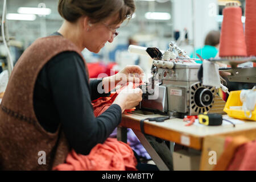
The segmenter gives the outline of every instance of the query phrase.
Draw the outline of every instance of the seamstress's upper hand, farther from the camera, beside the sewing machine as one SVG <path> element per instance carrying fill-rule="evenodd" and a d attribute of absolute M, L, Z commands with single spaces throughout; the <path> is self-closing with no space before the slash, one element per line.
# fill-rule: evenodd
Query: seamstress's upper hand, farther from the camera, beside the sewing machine
<path fill-rule="evenodd" d="M 144 72 L 138 65 L 126 65 L 117 74 L 102 79 L 105 93 L 114 89 L 115 86 L 125 85 L 127 82 L 141 83 Z"/>

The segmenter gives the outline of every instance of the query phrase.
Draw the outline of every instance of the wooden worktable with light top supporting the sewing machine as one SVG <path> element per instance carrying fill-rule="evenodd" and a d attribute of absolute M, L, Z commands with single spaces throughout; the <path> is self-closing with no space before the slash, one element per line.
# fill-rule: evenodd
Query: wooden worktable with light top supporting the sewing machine
<path fill-rule="evenodd" d="M 245 123 L 221 126 L 185 126 L 186 122 L 183 119 L 172 118 L 164 122 L 149 122 L 144 121 L 144 133 L 141 133 L 141 119 L 148 117 L 159 117 L 159 114 L 142 113 L 127 113 L 122 115 L 122 122 L 118 127 L 118 139 L 126 141 L 126 128 L 133 129 L 141 143 L 146 148 L 151 158 L 161 170 L 173 169 L 172 155 L 170 148 L 166 148 L 165 144 L 159 141 L 155 142 L 155 137 L 163 140 L 168 140 L 187 146 L 201 152 L 200 169 L 209 170 L 213 166 L 208 165 L 208 151 L 217 150 L 217 158 L 223 151 L 223 144 L 226 136 L 245 135 L 247 138 L 256 139 L 256 122 L 245 121 Z M 145 137 L 146 136 L 146 137 Z"/>

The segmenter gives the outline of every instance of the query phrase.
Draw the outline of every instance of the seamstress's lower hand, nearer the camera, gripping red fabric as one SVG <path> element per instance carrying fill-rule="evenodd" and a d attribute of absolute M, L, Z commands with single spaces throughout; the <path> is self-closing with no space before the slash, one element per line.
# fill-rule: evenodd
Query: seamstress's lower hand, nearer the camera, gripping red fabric
<path fill-rule="evenodd" d="M 142 90 L 140 88 L 133 89 L 133 83 L 129 82 L 129 85 L 115 98 L 113 104 L 119 105 L 123 113 L 126 109 L 132 109 L 137 106 L 141 101 Z"/>

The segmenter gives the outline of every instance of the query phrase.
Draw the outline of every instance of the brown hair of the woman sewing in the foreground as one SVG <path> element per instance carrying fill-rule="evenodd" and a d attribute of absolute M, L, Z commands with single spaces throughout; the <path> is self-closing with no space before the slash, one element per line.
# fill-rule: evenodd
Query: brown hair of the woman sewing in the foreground
<path fill-rule="evenodd" d="M 113 24 L 131 18 L 135 11 L 134 0 L 59 0 L 59 14 L 69 22 L 88 16 L 90 22 L 98 23 L 118 14 Z"/>

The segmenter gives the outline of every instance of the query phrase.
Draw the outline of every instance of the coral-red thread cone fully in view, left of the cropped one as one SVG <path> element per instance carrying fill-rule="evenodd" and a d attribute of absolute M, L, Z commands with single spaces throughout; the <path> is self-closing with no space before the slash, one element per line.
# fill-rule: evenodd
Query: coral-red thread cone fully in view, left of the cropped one
<path fill-rule="evenodd" d="M 242 9 L 238 3 L 227 3 L 223 10 L 220 38 L 220 57 L 245 57 L 246 44 L 241 21 Z"/>

